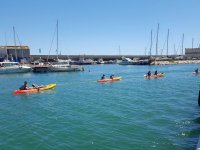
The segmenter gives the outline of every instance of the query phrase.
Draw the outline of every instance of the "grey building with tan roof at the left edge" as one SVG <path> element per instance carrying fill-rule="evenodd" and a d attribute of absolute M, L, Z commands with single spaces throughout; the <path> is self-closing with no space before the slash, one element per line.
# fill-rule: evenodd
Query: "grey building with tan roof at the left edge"
<path fill-rule="evenodd" d="M 0 46 L 0 60 L 29 62 L 30 49 L 28 46 Z"/>

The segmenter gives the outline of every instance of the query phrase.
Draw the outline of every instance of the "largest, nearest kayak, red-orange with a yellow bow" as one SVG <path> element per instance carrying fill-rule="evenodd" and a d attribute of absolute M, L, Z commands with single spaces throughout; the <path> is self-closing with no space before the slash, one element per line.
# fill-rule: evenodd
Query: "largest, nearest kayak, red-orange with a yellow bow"
<path fill-rule="evenodd" d="M 48 84 L 39 88 L 31 88 L 28 90 L 15 90 L 13 91 L 13 94 L 26 94 L 26 93 L 35 93 L 39 91 L 49 90 L 56 86 L 56 84 Z"/>

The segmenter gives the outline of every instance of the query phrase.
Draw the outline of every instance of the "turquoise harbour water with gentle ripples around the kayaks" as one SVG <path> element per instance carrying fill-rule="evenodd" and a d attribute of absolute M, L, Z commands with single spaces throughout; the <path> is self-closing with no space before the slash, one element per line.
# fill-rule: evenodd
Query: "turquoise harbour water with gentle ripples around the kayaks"
<path fill-rule="evenodd" d="M 0 149 L 189 150 L 200 134 L 199 65 L 86 66 L 84 72 L 1 75 Z M 166 77 L 144 79 L 148 70 Z M 102 73 L 122 76 L 97 83 Z M 13 95 L 24 81 L 53 90 Z"/>

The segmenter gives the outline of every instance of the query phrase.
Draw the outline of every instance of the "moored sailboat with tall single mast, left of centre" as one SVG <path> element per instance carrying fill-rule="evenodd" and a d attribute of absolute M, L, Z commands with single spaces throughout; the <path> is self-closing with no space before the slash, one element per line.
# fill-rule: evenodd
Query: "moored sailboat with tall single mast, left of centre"
<path fill-rule="evenodd" d="M 70 72 L 70 71 L 83 71 L 84 68 L 79 65 L 70 65 L 69 60 L 62 60 L 58 58 L 58 20 L 56 24 L 56 29 L 57 29 L 57 61 L 50 64 L 49 71 L 50 72 Z"/>

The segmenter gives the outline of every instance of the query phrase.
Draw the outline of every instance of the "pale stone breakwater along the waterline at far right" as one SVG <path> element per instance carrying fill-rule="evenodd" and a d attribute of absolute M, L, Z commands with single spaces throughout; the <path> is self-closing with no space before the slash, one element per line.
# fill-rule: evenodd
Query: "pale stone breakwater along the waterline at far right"
<path fill-rule="evenodd" d="M 156 60 L 151 65 L 198 64 L 200 60 Z"/>

